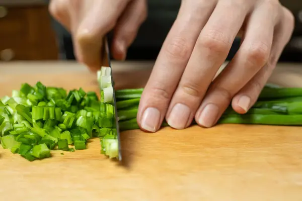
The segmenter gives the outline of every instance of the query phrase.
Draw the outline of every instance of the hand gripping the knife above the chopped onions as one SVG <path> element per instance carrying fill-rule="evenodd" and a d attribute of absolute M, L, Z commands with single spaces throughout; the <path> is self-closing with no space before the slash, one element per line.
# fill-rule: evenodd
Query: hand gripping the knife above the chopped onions
<path fill-rule="evenodd" d="M 94 71 L 101 66 L 103 37 L 114 29 L 112 55 L 124 60 L 147 16 L 146 0 L 51 0 L 49 11 L 71 33 L 78 61 Z"/>

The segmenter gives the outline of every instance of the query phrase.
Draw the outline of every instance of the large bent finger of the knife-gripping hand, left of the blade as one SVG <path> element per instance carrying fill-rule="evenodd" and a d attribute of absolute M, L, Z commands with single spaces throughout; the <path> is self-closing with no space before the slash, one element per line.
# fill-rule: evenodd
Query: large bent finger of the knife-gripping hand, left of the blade
<path fill-rule="evenodd" d="M 95 1 L 73 34 L 75 55 L 91 70 L 100 69 L 102 40 L 113 29 L 126 5 L 124 0 Z"/>

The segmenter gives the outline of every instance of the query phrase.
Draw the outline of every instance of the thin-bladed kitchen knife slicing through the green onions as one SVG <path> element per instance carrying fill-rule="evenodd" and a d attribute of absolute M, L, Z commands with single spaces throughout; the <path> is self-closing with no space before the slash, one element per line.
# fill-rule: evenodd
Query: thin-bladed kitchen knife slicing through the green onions
<path fill-rule="evenodd" d="M 112 68 L 111 68 L 111 60 L 110 60 L 110 51 L 109 51 L 109 45 L 108 45 L 108 39 L 107 37 L 104 37 L 103 42 L 103 50 L 102 50 L 102 64 L 103 66 L 110 67 L 110 74 L 111 74 L 111 85 L 113 88 L 113 106 L 114 106 L 114 116 L 115 116 L 115 129 L 116 129 L 116 135 L 118 140 L 118 160 L 122 160 L 122 154 L 121 154 L 121 142 L 120 142 L 120 131 L 119 131 L 119 125 L 118 125 L 118 115 L 117 115 L 117 107 L 116 107 L 116 98 L 115 98 L 115 90 L 114 90 L 114 80 L 112 76 Z"/>

